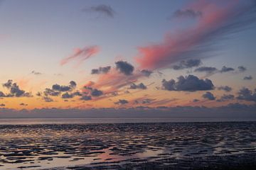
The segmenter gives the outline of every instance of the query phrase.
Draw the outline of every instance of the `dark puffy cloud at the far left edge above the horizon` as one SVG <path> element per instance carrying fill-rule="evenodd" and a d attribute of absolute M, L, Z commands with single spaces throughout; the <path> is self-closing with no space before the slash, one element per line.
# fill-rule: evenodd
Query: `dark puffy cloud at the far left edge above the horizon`
<path fill-rule="evenodd" d="M 16 83 L 13 83 L 11 79 L 9 79 L 5 84 L 3 84 L 4 87 L 9 89 L 9 94 L 6 94 L 3 96 L 4 93 L 1 93 L 2 97 L 31 97 L 31 93 L 28 93 L 26 91 L 23 91 L 19 88 L 19 86 Z"/>

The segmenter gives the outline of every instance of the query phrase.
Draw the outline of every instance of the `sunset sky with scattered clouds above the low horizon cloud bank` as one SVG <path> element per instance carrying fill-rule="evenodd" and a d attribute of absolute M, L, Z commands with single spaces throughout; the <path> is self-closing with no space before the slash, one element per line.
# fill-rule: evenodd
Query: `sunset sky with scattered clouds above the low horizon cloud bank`
<path fill-rule="evenodd" d="M 255 21 L 252 0 L 2 0 L 0 115 L 254 112 Z"/>

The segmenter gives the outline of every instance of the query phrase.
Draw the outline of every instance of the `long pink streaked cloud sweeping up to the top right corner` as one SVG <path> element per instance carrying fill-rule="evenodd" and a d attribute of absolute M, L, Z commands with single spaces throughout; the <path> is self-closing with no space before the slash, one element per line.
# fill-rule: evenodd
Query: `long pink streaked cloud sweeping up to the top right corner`
<path fill-rule="evenodd" d="M 218 40 L 230 38 L 256 20 L 254 1 L 196 1 L 189 6 L 203 15 L 193 26 L 167 34 L 162 42 L 138 47 L 139 69 L 164 69 L 180 60 L 215 56 L 211 52 L 216 51 Z"/>

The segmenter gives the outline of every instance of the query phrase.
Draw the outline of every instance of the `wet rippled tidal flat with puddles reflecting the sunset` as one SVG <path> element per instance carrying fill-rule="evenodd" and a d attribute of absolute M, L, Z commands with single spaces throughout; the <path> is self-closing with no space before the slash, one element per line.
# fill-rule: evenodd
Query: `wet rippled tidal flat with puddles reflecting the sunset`
<path fill-rule="evenodd" d="M 0 169 L 255 169 L 256 122 L 0 125 Z"/>

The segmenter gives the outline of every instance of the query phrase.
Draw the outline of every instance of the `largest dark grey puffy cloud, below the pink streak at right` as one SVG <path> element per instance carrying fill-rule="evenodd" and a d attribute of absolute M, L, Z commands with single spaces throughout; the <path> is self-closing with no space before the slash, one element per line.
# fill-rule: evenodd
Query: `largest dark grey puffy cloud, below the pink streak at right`
<path fill-rule="evenodd" d="M 171 79 L 166 81 L 162 80 L 162 86 L 164 90 L 168 91 L 207 91 L 213 90 L 214 85 L 210 79 L 198 79 L 193 75 L 187 77 L 178 77 L 178 81 Z"/>

